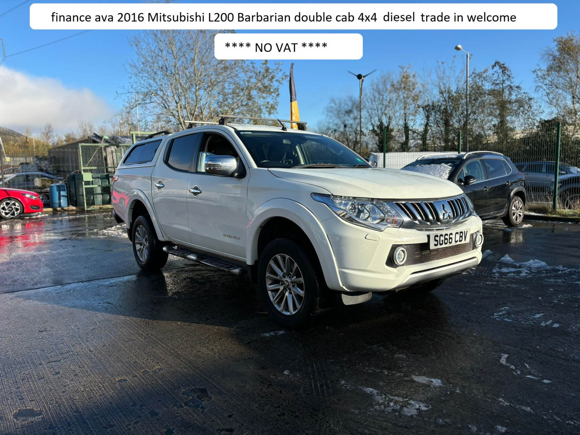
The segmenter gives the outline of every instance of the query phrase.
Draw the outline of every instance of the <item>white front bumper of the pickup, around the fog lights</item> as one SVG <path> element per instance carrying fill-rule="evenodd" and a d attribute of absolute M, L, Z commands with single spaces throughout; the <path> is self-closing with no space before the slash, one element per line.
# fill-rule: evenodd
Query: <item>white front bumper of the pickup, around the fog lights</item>
<path fill-rule="evenodd" d="M 425 253 L 426 262 L 394 266 L 389 253 L 396 245 L 425 244 L 436 231 L 387 228 L 374 231 L 345 222 L 336 217 L 321 222 L 336 258 L 342 288 L 338 291 L 386 292 L 438 278 L 445 278 L 477 266 L 481 247 L 459 249 L 439 258 Z M 472 216 L 456 224 L 452 230 L 481 231 L 481 219 Z M 473 245 L 471 245 L 473 248 Z M 446 249 L 446 248 L 440 248 Z M 436 250 L 433 250 L 436 251 Z M 442 252 L 442 251 L 439 251 Z"/>

